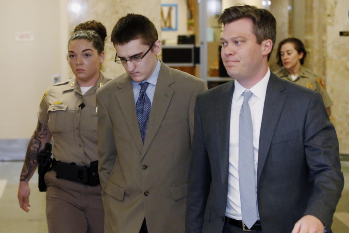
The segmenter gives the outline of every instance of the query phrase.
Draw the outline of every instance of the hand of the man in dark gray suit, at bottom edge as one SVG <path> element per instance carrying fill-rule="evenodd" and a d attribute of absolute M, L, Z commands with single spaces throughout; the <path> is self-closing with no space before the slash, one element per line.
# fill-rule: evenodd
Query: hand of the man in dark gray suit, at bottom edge
<path fill-rule="evenodd" d="M 324 224 L 315 216 L 305 215 L 295 224 L 292 233 L 324 233 Z"/>

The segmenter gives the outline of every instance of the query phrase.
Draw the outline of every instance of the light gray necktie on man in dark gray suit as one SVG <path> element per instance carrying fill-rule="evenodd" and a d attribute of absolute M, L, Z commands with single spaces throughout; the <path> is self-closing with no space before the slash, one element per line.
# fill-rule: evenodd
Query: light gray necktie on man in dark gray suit
<path fill-rule="evenodd" d="M 244 102 L 239 118 L 239 187 L 242 220 L 250 229 L 257 219 L 257 200 L 255 190 L 253 131 L 251 110 L 248 100 L 252 92 L 245 91 Z"/>

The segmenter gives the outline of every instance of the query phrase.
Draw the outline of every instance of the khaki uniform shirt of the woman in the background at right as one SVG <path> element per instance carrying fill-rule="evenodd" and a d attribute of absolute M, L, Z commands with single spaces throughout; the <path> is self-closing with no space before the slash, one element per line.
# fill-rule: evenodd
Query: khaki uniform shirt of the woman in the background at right
<path fill-rule="evenodd" d="M 329 108 L 333 105 L 331 99 L 329 98 L 326 92 L 324 81 L 322 80 L 322 78 L 316 76 L 310 70 L 305 69 L 304 67 L 300 67 L 298 77 L 295 80 L 292 80 L 291 75 L 287 71 L 287 69 L 281 69 L 275 72 L 275 74 L 282 79 L 289 80 L 293 83 L 299 84 L 304 87 L 308 87 L 316 92 L 319 92 L 322 96 L 322 100 L 324 101 L 326 108 Z"/>

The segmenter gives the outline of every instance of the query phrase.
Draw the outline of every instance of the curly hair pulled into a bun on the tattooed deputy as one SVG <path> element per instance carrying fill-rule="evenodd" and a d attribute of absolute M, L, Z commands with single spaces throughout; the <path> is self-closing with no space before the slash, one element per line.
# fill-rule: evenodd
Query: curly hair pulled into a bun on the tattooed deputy
<path fill-rule="evenodd" d="M 80 23 L 74 28 L 72 37 L 70 37 L 68 45 L 72 40 L 84 39 L 91 41 L 98 54 L 104 51 L 104 41 L 107 36 L 107 30 L 105 26 L 95 20 Z"/>

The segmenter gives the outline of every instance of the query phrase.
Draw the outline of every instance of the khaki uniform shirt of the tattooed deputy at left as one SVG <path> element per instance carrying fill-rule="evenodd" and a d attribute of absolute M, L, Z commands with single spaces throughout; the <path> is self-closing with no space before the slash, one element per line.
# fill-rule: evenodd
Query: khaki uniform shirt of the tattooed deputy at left
<path fill-rule="evenodd" d="M 56 83 L 45 92 L 38 120 L 50 130 L 56 160 L 79 166 L 98 160 L 96 90 L 109 80 L 101 73 L 84 95 L 75 78 Z M 83 108 L 79 107 L 82 103 Z"/>

